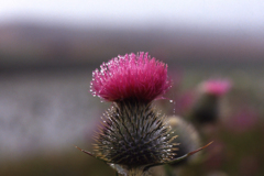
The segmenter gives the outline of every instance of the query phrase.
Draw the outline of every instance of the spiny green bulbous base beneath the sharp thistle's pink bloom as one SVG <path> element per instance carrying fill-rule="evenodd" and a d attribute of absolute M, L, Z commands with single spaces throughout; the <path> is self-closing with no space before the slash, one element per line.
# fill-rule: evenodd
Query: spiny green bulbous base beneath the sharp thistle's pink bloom
<path fill-rule="evenodd" d="M 151 103 L 114 102 L 103 114 L 103 124 L 97 134 L 96 156 L 107 163 L 135 168 L 166 163 L 177 150 L 165 117 Z"/>

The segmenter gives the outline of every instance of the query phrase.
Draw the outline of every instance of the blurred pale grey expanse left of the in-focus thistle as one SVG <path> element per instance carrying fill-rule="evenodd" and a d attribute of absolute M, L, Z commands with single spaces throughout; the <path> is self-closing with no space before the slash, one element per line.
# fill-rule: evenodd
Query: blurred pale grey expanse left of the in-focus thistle
<path fill-rule="evenodd" d="M 91 70 L 0 77 L 0 161 L 85 141 L 100 100 L 89 94 Z"/>

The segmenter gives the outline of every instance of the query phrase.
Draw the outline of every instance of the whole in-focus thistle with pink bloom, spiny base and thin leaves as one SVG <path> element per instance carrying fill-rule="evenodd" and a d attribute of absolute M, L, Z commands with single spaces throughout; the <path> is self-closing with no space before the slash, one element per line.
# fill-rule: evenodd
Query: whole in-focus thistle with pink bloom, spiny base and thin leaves
<path fill-rule="evenodd" d="M 91 92 L 112 101 L 112 107 L 103 114 L 95 136 L 95 153 L 81 151 L 123 175 L 139 175 L 152 166 L 177 161 L 177 144 L 173 143 L 176 135 L 152 105 L 170 88 L 167 65 L 147 53 L 132 53 L 114 57 L 100 68 L 92 73 Z"/>

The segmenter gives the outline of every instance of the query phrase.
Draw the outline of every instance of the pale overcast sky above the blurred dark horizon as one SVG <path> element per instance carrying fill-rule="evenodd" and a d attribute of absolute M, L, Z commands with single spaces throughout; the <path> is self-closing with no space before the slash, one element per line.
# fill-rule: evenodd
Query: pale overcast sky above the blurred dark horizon
<path fill-rule="evenodd" d="M 0 0 L 0 21 L 90 25 L 167 23 L 264 31 L 263 0 Z"/>

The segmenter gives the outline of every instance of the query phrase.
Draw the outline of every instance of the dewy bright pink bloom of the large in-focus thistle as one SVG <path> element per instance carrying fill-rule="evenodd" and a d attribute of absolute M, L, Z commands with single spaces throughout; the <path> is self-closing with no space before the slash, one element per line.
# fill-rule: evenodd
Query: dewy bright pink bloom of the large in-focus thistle
<path fill-rule="evenodd" d="M 125 54 L 92 73 L 91 92 L 106 101 L 135 99 L 150 102 L 170 88 L 167 65 L 147 53 Z"/>

